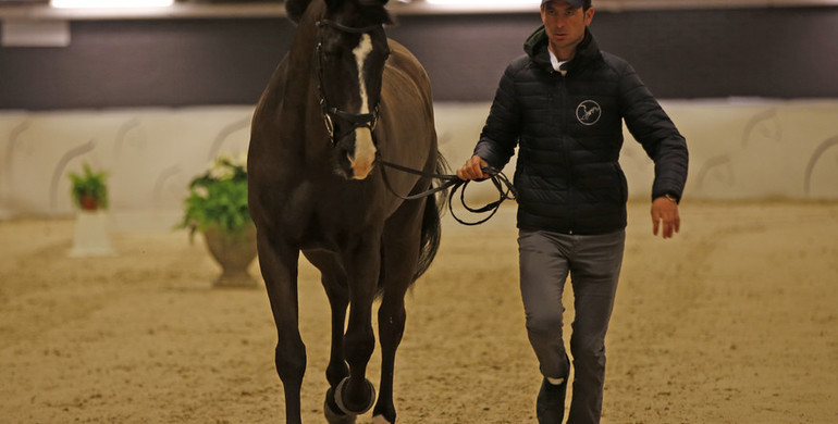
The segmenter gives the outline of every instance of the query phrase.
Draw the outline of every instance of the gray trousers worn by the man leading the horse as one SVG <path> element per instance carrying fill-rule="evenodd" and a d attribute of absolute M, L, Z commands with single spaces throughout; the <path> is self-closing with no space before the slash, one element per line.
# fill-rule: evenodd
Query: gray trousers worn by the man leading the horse
<path fill-rule="evenodd" d="M 570 276 L 576 316 L 570 336 L 575 376 L 568 424 L 600 422 L 605 332 L 614 308 L 625 241 L 625 230 L 594 236 L 519 232 L 527 335 L 541 373 L 550 378 L 567 378 L 570 372 L 562 329 L 562 295 Z"/>

